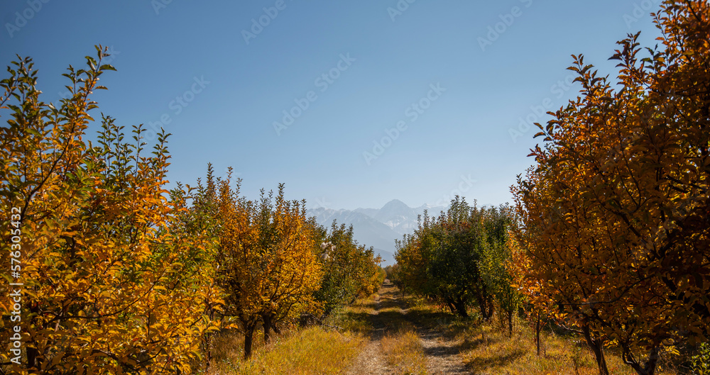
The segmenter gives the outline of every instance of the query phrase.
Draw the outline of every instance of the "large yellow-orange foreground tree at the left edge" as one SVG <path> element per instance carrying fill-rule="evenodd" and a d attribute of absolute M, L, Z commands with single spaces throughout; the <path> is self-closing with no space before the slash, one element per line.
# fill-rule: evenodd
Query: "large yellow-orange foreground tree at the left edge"
<path fill-rule="evenodd" d="M 141 126 L 124 128 L 102 116 L 98 145 L 85 142 L 89 111 L 105 50 L 70 67 L 72 96 L 60 106 L 40 101 L 37 72 L 19 58 L 2 79 L 0 206 L 16 212 L 4 221 L 5 282 L 20 295 L 20 320 L 1 302 L 0 342 L 22 336 L 20 353 L 0 353 L 3 371 L 18 374 L 165 374 L 192 371 L 204 318 L 219 304 L 209 267 L 191 259 L 207 251 L 176 223 L 182 198 L 170 198 L 168 154 L 162 133 L 146 152 Z M 8 228 L 6 225 L 11 225 Z M 13 239 L 13 236 L 17 236 Z M 12 354 L 12 357 L 10 356 Z"/>

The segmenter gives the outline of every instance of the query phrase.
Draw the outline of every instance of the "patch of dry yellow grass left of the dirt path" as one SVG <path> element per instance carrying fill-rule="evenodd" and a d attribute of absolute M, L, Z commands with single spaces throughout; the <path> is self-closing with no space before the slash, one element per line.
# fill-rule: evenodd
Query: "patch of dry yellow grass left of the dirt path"
<path fill-rule="evenodd" d="M 364 343 L 359 334 L 312 327 L 257 345 L 251 360 L 244 361 L 241 340 L 241 335 L 222 335 L 214 342 L 208 374 L 338 374 L 351 366 Z"/>

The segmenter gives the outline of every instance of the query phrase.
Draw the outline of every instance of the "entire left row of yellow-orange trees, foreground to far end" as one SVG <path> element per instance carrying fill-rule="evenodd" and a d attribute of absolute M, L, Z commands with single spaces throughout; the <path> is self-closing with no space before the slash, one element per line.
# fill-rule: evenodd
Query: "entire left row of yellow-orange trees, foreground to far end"
<path fill-rule="evenodd" d="M 268 340 L 376 288 L 372 250 L 307 218 L 283 186 L 249 201 L 210 168 L 167 191 L 167 134 L 146 150 L 141 126 L 126 135 L 102 115 L 84 140 L 106 56 L 70 67 L 60 106 L 40 101 L 29 58 L 0 81 L 0 267 L 13 271 L 0 273 L 0 345 L 16 349 L 0 351 L 0 372 L 187 374 L 214 332 L 244 332 L 248 357 L 258 328 Z"/>

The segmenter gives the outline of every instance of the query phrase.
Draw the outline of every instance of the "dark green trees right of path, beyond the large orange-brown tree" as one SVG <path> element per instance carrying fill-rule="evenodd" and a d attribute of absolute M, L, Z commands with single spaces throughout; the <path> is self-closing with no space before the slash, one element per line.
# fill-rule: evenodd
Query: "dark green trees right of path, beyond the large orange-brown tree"
<path fill-rule="evenodd" d="M 484 320 L 499 307 L 512 331 L 522 298 L 505 268 L 511 223 L 509 206 L 478 208 L 459 197 L 438 218 L 425 213 L 415 233 L 397 242 L 396 282 L 464 318 L 471 306 Z"/>

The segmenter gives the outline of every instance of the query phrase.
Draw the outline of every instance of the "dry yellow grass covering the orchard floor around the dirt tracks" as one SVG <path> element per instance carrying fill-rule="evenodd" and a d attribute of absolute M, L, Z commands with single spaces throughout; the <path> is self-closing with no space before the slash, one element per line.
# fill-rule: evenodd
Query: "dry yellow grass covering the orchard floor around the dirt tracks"
<path fill-rule="evenodd" d="M 403 313 L 405 308 L 406 313 Z M 373 315 L 376 310 L 378 313 Z M 233 374 L 343 374 L 358 371 L 356 358 L 366 348 L 368 336 L 379 340 L 377 352 L 390 374 L 427 374 L 427 351 L 422 332 L 436 332 L 471 374 L 572 374 L 596 375 L 594 354 L 584 340 L 542 332 L 541 355 L 537 356 L 532 328 L 516 320 L 513 335 L 502 324 L 463 320 L 420 298 L 395 299 L 393 291 L 357 301 L 330 318 L 329 325 L 343 330 L 311 327 L 290 330 L 263 345 L 255 337 L 253 357 L 242 359 L 243 337 L 223 334 L 214 342 L 209 375 Z M 606 350 L 611 374 L 634 375 L 613 349 Z M 368 354 L 365 354 L 368 355 Z M 430 355 L 432 355 L 430 353 Z M 676 375 L 668 361 L 657 367 L 657 375 Z M 355 365 L 355 366 L 354 366 Z M 361 369 L 366 371 L 365 369 Z"/>

